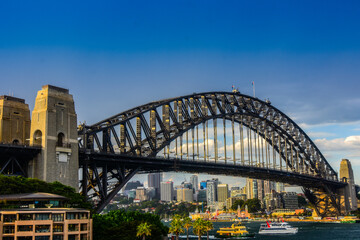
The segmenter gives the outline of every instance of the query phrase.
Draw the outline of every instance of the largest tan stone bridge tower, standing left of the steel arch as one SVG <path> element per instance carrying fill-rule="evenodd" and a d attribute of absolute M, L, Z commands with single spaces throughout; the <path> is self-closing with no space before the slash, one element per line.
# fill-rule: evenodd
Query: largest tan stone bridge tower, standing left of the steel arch
<path fill-rule="evenodd" d="M 30 130 L 30 145 L 42 150 L 29 164 L 29 177 L 59 181 L 78 191 L 77 138 L 77 116 L 69 90 L 43 86 L 35 100 Z"/>

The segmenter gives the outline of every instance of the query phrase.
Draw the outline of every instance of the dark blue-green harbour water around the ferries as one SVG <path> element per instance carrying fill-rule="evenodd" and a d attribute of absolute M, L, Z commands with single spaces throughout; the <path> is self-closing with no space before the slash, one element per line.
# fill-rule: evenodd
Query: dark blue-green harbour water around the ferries
<path fill-rule="evenodd" d="M 262 222 L 263 223 L 263 222 Z M 210 235 L 214 235 L 220 227 L 229 227 L 232 223 L 214 222 L 214 230 L 210 231 Z M 259 232 L 261 222 L 244 222 L 249 232 Z M 360 224 L 346 223 L 319 223 L 319 222 L 290 222 L 291 226 L 298 227 L 299 232 L 294 235 L 282 236 L 263 236 L 256 234 L 253 239 L 275 240 L 275 239 L 291 239 L 291 240 L 360 240 Z M 192 232 L 189 232 L 192 234 Z M 186 239 L 181 238 L 181 239 Z M 192 238 L 195 239 L 195 238 Z M 197 239 L 197 238 L 196 238 Z M 204 236 L 202 239 L 206 239 Z M 214 239 L 214 238 L 212 238 Z"/>

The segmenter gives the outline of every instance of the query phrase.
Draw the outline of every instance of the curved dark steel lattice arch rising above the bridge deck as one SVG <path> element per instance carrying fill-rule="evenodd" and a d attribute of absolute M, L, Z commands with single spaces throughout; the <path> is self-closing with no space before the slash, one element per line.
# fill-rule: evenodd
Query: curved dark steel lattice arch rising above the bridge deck
<path fill-rule="evenodd" d="M 175 105 L 175 104 L 176 105 Z M 186 103 L 186 104 L 185 104 Z M 189 108 L 189 104 L 190 108 Z M 159 115 L 159 108 L 169 108 L 168 119 L 172 122 L 169 128 Z M 156 122 L 160 129 L 156 132 L 156 139 L 152 135 L 150 123 L 144 116 L 150 111 L 155 113 Z M 178 115 L 181 114 L 181 117 Z M 183 97 L 166 99 L 145 104 L 128 111 L 122 112 L 104 121 L 91 126 L 84 126 L 79 130 L 81 136 L 80 148 L 92 149 L 97 152 L 115 153 L 114 145 L 123 147 L 122 137 L 115 131 L 121 125 L 124 128 L 124 137 L 129 145 L 128 155 L 156 156 L 170 142 L 211 119 L 226 118 L 231 120 L 234 116 L 236 122 L 244 126 L 259 130 L 265 138 L 265 133 L 274 133 L 276 151 L 282 159 L 289 161 L 285 151 L 294 146 L 293 154 L 299 154 L 313 172 L 324 177 L 337 180 L 337 173 L 326 161 L 322 153 L 306 135 L 306 133 L 288 116 L 273 107 L 269 102 L 242 95 L 240 93 L 210 92 L 193 94 Z M 137 121 L 144 137 L 140 141 L 139 134 L 134 131 L 131 121 Z M 269 134 L 268 134 L 269 135 Z M 111 139 L 114 139 L 115 143 Z M 265 138 L 270 142 L 269 138 Z M 280 141 L 279 141 L 280 140 Z M 154 144 L 155 143 L 155 144 Z M 137 151 L 138 150 L 138 151 Z M 287 154 L 289 155 L 289 154 Z M 290 168 L 294 166 L 287 163 Z"/>

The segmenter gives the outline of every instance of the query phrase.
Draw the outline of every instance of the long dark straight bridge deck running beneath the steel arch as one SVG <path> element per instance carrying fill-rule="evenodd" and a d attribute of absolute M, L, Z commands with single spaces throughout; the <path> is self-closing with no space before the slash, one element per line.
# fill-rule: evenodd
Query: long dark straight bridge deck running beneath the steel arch
<path fill-rule="evenodd" d="M 275 182 L 284 182 L 305 188 L 322 188 L 324 185 L 332 189 L 343 188 L 347 183 L 325 179 L 308 174 L 295 172 L 279 171 L 271 168 L 247 166 L 232 163 L 221 163 L 214 161 L 193 161 L 181 160 L 179 158 L 163 157 L 139 157 L 121 154 L 86 153 L 84 150 L 79 152 L 79 167 L 95 163 L 96 167 L 116 169 L 117 166 L 126 165 L 127 169 L 138 169 L 137 173 L 147 172 L 169 172 L 179 171 L 187 173 L 206 173 L 214 175 L 227 175 L 234 177 L 249 177 Z M 141 166 L 141 168 L 139 168 Z"/>

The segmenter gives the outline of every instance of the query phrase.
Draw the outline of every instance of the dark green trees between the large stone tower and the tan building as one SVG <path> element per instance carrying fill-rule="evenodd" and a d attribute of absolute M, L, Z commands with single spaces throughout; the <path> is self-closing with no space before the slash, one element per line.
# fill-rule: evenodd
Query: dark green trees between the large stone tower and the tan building
<path fill-rule="evenodd" d="M 74 188 L 59 182 L 47 183 L 35 178 L 13 177 L 0 175 L 0 195 L 46 192 L 67 197 L 69 207 L 78 207 L 92 210 L 92 205 Z"/>

